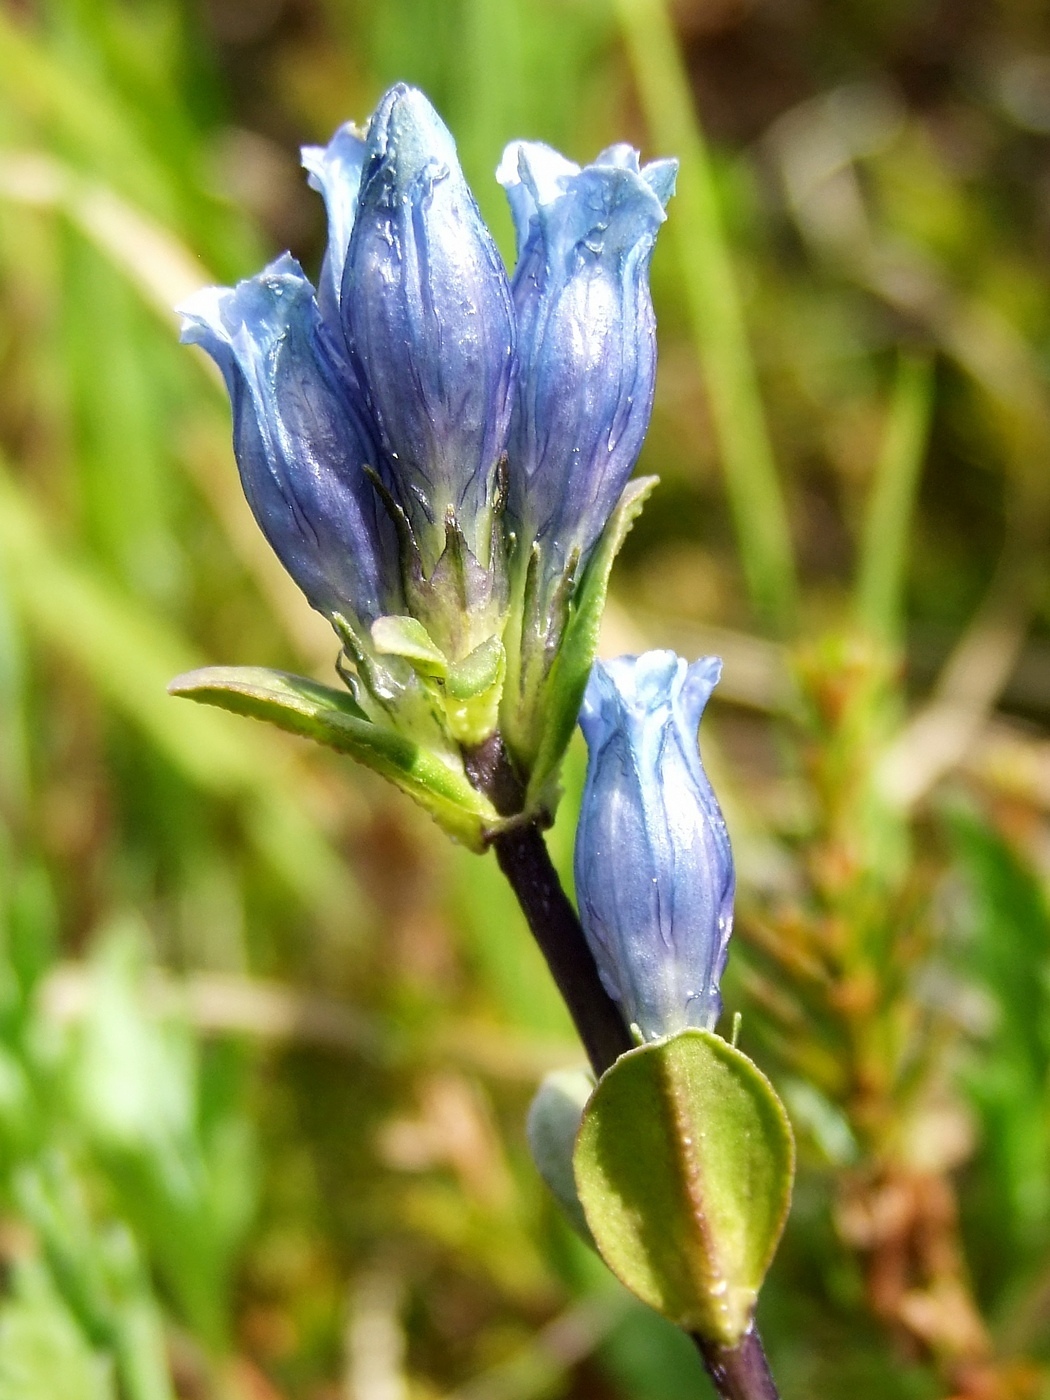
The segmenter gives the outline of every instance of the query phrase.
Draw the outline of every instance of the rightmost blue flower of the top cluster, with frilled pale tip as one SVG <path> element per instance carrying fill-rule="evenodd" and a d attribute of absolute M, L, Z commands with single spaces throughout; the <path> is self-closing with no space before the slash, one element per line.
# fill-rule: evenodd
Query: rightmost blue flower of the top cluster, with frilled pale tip
<path fill-rule="evenodd" d="M 676 161 L 613 146 L 582 169 L 515 141 L 497 178 L 518 235 L 518 393 L 510 511 L 545 574 L 585 561 L 630 476 L 652 407 L 648 266 Z"/>

